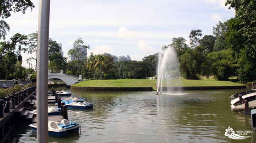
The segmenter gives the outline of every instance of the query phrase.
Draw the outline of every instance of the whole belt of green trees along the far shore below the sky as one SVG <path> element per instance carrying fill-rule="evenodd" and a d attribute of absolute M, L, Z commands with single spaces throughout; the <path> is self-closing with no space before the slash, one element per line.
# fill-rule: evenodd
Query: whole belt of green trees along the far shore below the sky
<path fill-rule="evenodd" d="M 213 26 L 213 35 L 203 36 L 202 30 L 192 29 L 188 37 L 189 45 L 184 37 L 174 37 L 169 45 L 162 47 L 163 50 L 169 46 L 175 49 L 181 78 L 200 79 L 214 75 L 218 80 L 237 76 L 243 83 L 256 80 L 256 1 L 227 0 L 225 5 L 235 9 L 235 18 L 219 21 Z M 32 8 L 33 5 L 29 3 L 28 7 Z M 6 32 L 0 35 L 0 38 L 4 38 Z M 87 53 L 80 53 L 79 48 L 90 48 L 84 46 L 81 38 L 73 46 L 68 55 L 74 61 L 67 61 L 67 57 L 60 54 L 57 42 L 49 39 L 49 70 L 63 70 L 86 79 L 142 79 L 156 75 L 158 53 L 146 56 L 141 61 L 115 62 L 107 54 L 90 53 L 86 59 L 80 58 L 81 54 Z M 37 54 L 37 32 L 27 36 L 17 33 L 10 41 L 0 42 L 1 78 L 25 78 L 28 72 L 35 76 L 36 68 L 21 66 L 22 51 Z M 32 60 L 37 61 L 37 58 L 31 56 L 26 59 L 27 62 Z"/>

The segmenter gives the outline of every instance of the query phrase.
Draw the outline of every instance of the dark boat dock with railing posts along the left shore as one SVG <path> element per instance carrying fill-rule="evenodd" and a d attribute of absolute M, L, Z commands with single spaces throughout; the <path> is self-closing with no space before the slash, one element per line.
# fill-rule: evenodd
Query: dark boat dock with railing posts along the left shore
<path fill-rule="evenodd" d="M 35 85 L 15 93 L 15 95 L 9 95 L 0 99 L 0 143 L 5 142 L 17 123 L 30 124 L 37 122 L 36 115 L 29 112 L 37 107 L 35 100 L 37 95 L 36 89 Z M 56 100 L 49 100 L 49 102 L 56 102 Z M 62 115 L 48 115 L 48 120 L 61 121 L 64 118 L 67 119 L 67 107 L 62 106 L 61 108 Z"/>

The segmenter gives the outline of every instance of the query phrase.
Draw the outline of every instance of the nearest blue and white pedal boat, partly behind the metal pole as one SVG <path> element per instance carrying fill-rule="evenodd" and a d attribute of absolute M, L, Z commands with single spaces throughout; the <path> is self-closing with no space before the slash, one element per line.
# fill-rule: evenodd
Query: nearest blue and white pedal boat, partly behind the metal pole
<path fill-rule="evenodd" d="M 33 132 L 37 132 L 37 123 L 28 126 L 32 127 Z M 60 122 L 48 121 L 48 134 L 53 137 L 63 137 L 66 134 L 77 133 L 80 127 L 79 123 L 70 122 L 67 119 Z"/>

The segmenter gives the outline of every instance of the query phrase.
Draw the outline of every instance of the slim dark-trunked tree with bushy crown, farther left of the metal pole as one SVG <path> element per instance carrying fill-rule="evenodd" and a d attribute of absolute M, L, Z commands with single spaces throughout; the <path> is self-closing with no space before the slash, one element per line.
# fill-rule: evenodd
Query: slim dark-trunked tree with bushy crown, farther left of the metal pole
<path fill-rule="evenodd" d="M 20 33 L 16 33 L 11 37 L 11 42 L 14 46 L 18 45 L 18 61 L 22 63 L 21 51 L 27 51 L 27 48 L 21 48 L 21 45 L 27 46 L 27 36 L 21 35 Z"/>

